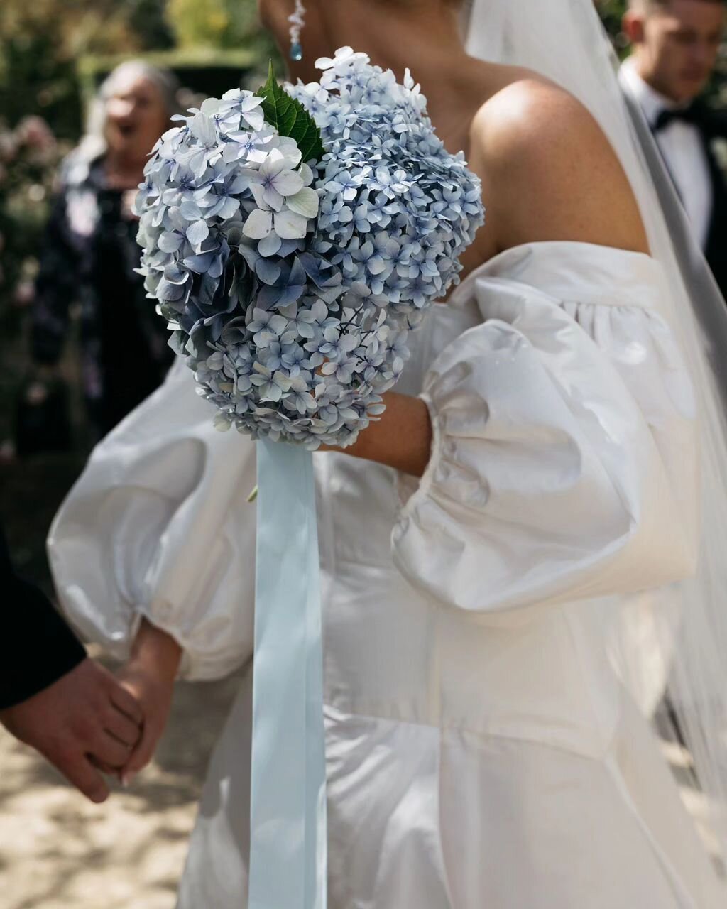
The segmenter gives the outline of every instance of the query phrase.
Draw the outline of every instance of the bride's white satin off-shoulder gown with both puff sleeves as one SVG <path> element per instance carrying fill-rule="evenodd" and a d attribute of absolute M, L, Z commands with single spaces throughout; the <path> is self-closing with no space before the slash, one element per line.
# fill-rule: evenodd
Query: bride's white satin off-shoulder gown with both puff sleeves
<path fill-rule="evenodd" d="M 413 335 L 421 481 L 316 454 L 331 909 L 727 904 L 609 651 L 692 573 L 692 390 L 646 255 L 523 245 Z M 124 655 L 141 614 L 183 673 L 247 664 L 180 909 L 246 904 L 254 444 L 178 367 L 55 520 L 67 614 Z M 189 730 L 194 735 L 194 728 Z"/>

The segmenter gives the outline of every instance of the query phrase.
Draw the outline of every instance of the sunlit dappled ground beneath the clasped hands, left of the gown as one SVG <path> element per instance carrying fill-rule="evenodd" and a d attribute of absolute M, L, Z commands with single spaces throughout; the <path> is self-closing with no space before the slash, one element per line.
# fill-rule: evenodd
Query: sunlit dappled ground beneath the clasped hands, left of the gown
<path fill-rule="evenodd" d="M 239 684 L 179 684 L 154 764 L 102 805 L 0 728 L 2 909 L 173 909 L 207 760 Z"/>

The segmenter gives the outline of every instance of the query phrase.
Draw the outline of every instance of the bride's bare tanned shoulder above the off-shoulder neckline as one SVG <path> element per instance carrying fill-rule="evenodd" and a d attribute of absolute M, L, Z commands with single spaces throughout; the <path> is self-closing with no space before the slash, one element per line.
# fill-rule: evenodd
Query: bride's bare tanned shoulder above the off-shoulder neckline
<path fill-rule="evenodd" d="M 500 245 L 564 239 L 646 250 L 618 157 L 559 86 L 527 71 L 503 85 L 473 119 L 469 157 Z"/>

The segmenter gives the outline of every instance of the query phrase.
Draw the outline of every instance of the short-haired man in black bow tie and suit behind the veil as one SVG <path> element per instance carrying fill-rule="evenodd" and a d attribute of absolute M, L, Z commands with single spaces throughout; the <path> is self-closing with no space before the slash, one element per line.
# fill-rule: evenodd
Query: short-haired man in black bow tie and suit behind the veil
<path fill-rule="evenodd" d="M 727 115 L 699 98 L 717 61 L 723 0 L 630 0 L 621 83 L 642 109 L 712 273 L 727 295 Z"/>

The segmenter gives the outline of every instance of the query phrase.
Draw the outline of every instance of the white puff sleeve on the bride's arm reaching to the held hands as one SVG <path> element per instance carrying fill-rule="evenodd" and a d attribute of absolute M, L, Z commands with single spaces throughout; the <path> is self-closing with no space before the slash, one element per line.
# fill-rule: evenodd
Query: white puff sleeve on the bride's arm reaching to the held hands
<path fill-rule="evenodd" d="M 181 363 L 99 445 L 52 525 L 61 605 L 124 659 L 142 615 L 182 645 L 180 674 L 212 679 L 253 651 L 254 443 L 214 429 Z"/>

